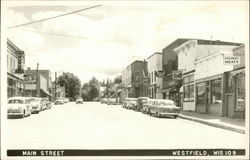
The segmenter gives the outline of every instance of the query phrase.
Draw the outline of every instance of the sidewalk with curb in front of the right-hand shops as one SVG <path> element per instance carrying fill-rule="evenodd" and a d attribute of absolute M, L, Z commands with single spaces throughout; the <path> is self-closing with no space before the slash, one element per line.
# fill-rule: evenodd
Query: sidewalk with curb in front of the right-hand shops
<path fill-rule="evenodd" d="M 244 119 L 232 119 L 227 117 L 220 117 L 209 114 L 202 114 L 196 112 L 181 111 L 180 118 L 199 122 L 213 127 L 227 129 L 234 132 L 245 134 L 245 120 Z"/>

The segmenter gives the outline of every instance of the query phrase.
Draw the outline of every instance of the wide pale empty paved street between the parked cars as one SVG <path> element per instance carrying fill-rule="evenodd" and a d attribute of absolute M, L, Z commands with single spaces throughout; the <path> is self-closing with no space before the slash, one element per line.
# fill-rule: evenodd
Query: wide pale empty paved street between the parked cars
<path fill-rule="evenodd" d="M 99 102 L 70 102 L 7 122 L 9 149 L 244 148 L 246 143 L 240 133 Z"/>

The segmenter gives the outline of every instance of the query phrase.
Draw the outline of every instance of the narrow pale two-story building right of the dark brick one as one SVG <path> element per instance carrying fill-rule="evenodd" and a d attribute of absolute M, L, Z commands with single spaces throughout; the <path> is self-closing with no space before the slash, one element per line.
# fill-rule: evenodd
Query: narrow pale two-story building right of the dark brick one
<path fill-rule="evenodd" d="M 157 77 L 156 73 L 162 70 L 162 53 L 156 52 L 147 58 L 148 61 L 148 97 L 153 99 L 162 99 L 162 80 Z"/>

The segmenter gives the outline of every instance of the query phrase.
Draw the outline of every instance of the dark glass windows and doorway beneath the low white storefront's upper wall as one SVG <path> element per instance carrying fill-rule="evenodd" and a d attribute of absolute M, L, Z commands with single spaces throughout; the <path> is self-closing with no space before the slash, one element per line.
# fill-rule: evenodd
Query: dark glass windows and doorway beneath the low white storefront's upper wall
<path fill-rule="evenodd" d="M 196 112 L 222 116 L 223 74 L 196 81 Z"/>

